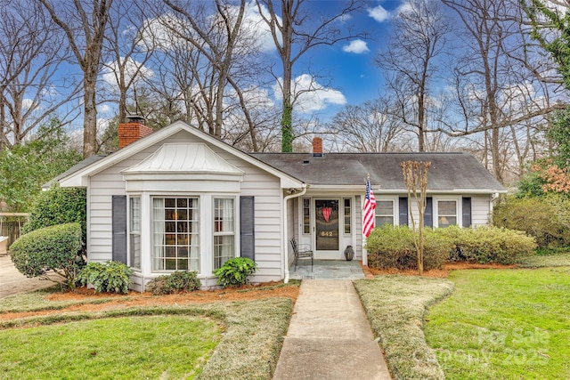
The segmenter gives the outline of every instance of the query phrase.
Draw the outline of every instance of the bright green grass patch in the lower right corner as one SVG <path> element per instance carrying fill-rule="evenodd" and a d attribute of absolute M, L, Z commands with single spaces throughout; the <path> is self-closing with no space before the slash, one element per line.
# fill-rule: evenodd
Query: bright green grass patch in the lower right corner
<path fill-rule="evenodd" d="M 446 379 L 570 378 L 570 268 L 453 271 L 428 313 Z"/>

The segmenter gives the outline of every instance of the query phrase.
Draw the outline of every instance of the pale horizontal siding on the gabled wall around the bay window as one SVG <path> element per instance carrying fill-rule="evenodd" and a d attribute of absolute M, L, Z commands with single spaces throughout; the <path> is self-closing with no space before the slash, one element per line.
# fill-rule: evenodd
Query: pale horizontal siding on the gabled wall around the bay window
<path fill-rule="evenodd" d="M 111 196 L 126 195 L 126 186 L 120 172 L 147 158 L 163 143 L 196 142 L 188 133 L 175 133 L 115 166 L 95 174 L 90 179 L 88 194 L 88 257 L 90 261 L 111 259 Z M 279 179 L 256 166 L 236 158 L 223 150 L 211 147 L 218 155 L 245 172 L 240 183 L 240 195 L 255 197 L 256 214 L 256 263 L 259 270 L 252 279 L 255 282 L 281 279 L 281 204 Z"/>

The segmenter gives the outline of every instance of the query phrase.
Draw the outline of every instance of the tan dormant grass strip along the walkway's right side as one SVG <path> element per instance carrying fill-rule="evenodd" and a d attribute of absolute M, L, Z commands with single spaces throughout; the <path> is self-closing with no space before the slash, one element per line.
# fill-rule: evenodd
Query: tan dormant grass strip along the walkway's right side
<path fill-rule="evenodd" d="M 422 326 L 428 306 L 449 295 L 452 282 L 396 275 L 357 280 L 354 287 L 380 338 L 392 376 L 396 380 L 443 379 Z"/>

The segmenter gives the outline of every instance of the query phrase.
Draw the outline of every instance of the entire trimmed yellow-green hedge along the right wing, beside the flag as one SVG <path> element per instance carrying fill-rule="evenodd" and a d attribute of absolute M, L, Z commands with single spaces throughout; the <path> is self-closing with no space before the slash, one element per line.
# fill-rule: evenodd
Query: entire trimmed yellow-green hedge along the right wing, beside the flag
<path fill-rule="evenodd" d="M 407 226 L 385 225 L 372 230 L 366 241 L 371 268 L 417 269 L 414 231 Z M 522 231 L 495 227 L 426 229 L 424 269 L 441 268 L 447 261 L 517 263 L 533 255 L 536 244 Z"/>

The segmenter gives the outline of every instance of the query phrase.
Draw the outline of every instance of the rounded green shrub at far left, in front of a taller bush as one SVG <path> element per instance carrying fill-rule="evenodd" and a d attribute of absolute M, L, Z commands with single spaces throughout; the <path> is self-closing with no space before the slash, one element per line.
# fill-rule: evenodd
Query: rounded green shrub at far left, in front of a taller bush
<path fill-rule="evenodd" d="M 10 247 L 10 256 L 16 269 L 27 277 L 54 271 L 67 280 L 69 287 L 74 287 L 77 271 L 84 264 L 77 255 L 80 247 L 79 223 L 59 224 L 22 235 Z"/>

